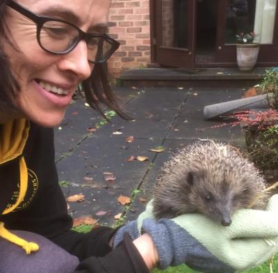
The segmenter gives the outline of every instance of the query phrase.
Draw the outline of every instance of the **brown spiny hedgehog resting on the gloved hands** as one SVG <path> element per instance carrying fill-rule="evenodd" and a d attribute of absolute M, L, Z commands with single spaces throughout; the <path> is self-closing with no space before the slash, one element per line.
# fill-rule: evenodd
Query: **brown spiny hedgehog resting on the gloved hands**
<path fill-rule="evenodd" d="M 197 212 L 229 226 L 235 210 L 265 209 L 264 190 L 263 176 L 237 148 L 196 141 L 163 164 L 154 187 L 153 213 L 160 219 Z"/>

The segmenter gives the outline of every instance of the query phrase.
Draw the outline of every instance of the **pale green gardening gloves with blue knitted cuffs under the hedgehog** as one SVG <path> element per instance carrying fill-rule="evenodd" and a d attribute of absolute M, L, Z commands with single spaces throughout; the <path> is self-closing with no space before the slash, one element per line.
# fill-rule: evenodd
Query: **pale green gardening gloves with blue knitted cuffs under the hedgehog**
<path fill-rule="evenodd" d="M 266 211 L 238 210 L 230 226 L 201 214 L 154 220 L 152 201 L 137 221 L 119 230 L 154 240 L 161 269 L 186 263 L 202 272 L 241 272 L 256 267 L 278 251 L 278 195 Z M 137 234 L 137 235 L 136 235 Z"/>

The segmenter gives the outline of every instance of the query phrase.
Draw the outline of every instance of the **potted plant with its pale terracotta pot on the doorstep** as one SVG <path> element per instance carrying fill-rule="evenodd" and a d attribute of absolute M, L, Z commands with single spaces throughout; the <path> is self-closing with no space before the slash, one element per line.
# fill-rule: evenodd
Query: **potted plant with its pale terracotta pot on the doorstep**
<path fill-rule="evenodd" d="M 240 70 L 252 70 L 259 55 L 260 44 L 254 42 L 259 36 L 254 32 L 239 33 L 236 35 L 236 59 Z"/>

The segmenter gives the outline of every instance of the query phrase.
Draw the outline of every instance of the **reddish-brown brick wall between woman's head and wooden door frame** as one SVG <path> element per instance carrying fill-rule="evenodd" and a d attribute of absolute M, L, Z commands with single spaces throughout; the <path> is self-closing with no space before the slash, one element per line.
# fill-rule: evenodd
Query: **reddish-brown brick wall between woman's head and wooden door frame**
<path fill-rule="evenodd" d="M 108 61 L 113 77 L 150 63 L 149 0 L 112 0 L 109 22 L 110 36 L 121 44 Z"/>

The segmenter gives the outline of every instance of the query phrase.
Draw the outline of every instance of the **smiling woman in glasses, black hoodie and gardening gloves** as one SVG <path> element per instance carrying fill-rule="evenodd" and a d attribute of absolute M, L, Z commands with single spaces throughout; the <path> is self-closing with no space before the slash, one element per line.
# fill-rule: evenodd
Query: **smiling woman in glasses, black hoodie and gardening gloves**
<path fill-rule="evenodd" d="M 125 117 L 104 72 L 105 61 L 118 47 L 105 34 L 109 6 L 110 0 L 0 0 L 0 272 L 144 273 L 156 265 L 180 263 L 207 272 L 234 272 L 254 266 L 258 255 L 265 260 L 275 247 L 259 245 L 261 252 L 252 256 L 257 244 L 250 247 L 242 240 L 236 253 L 249 251 L 252 256 L 244 265 L 231 263 L 233 251 L 224 257 L 210 252 L 211 245 L 195 234 L 202 225 L 187 232 L 185 223 L 193 221 L 187 216 L 156 222 L 145 212 L 140 224 L 134 221 L 117 231 L 71 231 L 51 128 L 63 119 L 80 84 L 92 107 L 104 103 Z M 277 198 L 272 203 L 277 204 Z M 246 213 L 251 215 L 247 222 Z M 251 230 L 253 237 L 277 242 L 275 217 L 261 212 L 264 224 L 255 224 L 259 212 L 246 213 L 235 220 L 244 226 L 237 236 L 248 237 Z M 213 224 L 208 231 L 224 234 Z M 231 240 L 221 236 L 220 249 Z M 206 241 L 213 239 L 208 235 Z"/>

